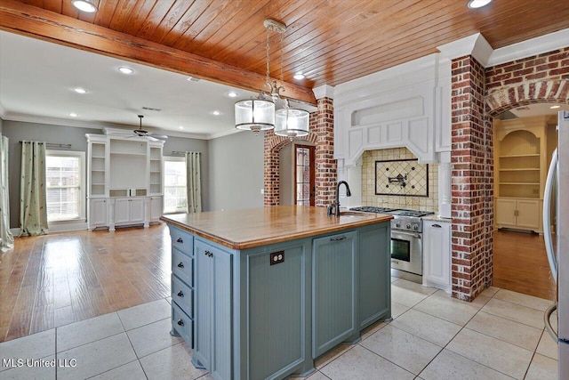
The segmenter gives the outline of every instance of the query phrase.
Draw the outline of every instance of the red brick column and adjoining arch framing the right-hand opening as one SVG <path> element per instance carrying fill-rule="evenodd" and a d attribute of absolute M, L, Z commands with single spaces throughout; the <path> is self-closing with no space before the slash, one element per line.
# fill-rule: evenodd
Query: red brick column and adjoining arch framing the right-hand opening
<path fill-rule="evenodd" d="M 493 117 L 569 104 L 569 47 L 488 69 L 461 57 L 452 68 L 453 296 L 471 301 L 493 279 Z"/>

